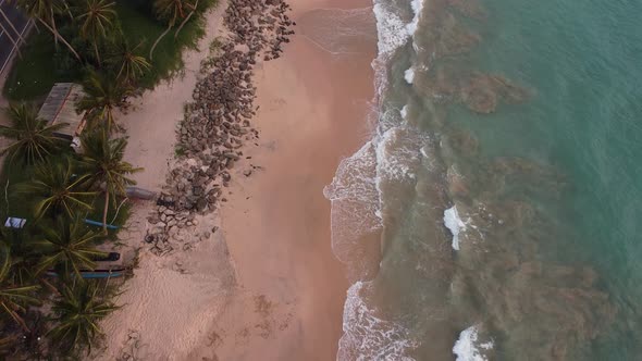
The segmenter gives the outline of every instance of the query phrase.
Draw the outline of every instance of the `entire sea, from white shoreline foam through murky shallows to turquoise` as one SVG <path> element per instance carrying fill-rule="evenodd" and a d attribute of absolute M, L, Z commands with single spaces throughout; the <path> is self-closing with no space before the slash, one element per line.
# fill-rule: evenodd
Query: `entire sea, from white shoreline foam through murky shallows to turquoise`
<path fill-rule="evenodd" d="M 642 360 L 642 2 L 365 12 L 375 125 L 324 189 L 337 360 Z"/>

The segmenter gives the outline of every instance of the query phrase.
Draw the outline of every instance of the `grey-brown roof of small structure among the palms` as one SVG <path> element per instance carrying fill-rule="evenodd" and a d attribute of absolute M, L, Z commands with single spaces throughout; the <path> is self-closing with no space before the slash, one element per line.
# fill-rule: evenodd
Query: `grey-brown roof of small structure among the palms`
<path fill-rule="evenodd" d="M 85 125 L 85 112 L 76 112 L 76 102 L 84 96 L 83 86 L 78 84 L 57 83 L 40 108 L 38 117 L 49 125 L 66 123 L 66 126 L 57 132 L 59 134 L 71 137 L 79 135 Z"/>

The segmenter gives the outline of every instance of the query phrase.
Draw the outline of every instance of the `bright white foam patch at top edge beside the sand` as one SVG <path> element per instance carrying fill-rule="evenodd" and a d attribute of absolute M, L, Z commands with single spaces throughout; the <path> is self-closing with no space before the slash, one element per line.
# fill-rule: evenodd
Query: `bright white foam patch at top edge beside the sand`
<path fill-rule="evenodd" d="M 390 57 L 408 40 L 406 24 L 384 2 L 374 1 L 374 17 L 376 18 L 376 34 L 379 36 L 379 54 Z"/>

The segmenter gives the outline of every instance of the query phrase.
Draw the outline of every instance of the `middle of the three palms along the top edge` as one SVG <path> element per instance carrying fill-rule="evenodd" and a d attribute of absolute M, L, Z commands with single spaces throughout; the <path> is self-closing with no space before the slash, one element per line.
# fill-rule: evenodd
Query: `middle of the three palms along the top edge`
<path fill-rule="evenodd" d="M 81 36 L 94 43 L 94 51 L 98 63 L 101 63 L 98 52 L 98 42 L 107 39 L 113 30 L 116 12 L 113 10 L 115 2 L 107 0 L 85 0 L 79 8 L 81 15 L 76 17 L 81 22 Z"/>

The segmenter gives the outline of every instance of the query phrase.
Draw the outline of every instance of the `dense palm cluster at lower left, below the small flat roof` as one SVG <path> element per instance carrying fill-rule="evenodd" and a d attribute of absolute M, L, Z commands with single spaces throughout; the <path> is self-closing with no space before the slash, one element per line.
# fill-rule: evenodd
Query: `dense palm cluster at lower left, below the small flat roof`
<path fill-rule="evenodd" d="M 79 354 L 100 335 L 97 322 L 114 308 L 109 295 L 96 292 L 103 281 L 81 276 L 82 270 L 96 269 L 96 257 L 104 256 L 99 245 L 115 247 L 114 234 L 83 220 L 102 216 L 106 223 L 122 226 L 128 214 L 126 207 L 121 208 L 126 200 L 124 187 L 134 184 L 125 175 L 137 169 L 122 161 L 124 138 L 108 138 L 104 122 L 92 128 L 86 139 L 100 134 L 102 140 L 87 147 L 92 149 L 85 154 L 65 146 L 51 148 L 33 162 L 7 158 L 0 176 L 1 219 L 27 220 L 23 228 L 0 227 L 0 329 L 3 335 L 30 335 L 29 324 L 47 309 L 35 306 L 50 303 L 52 313 L 39 331 L 55 343 L 47 352 L 50 357 Z M 49 278 L 49 271 L 58 277 Z M 75 309 L 66 312 L 71 307 Z M 73 312 L 81 314 L 73 316 Z M 0 358 L 26 357 L 27 346 L 21 339 L 0 339 Z"/>

